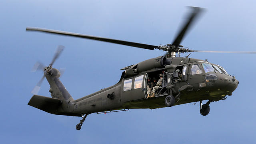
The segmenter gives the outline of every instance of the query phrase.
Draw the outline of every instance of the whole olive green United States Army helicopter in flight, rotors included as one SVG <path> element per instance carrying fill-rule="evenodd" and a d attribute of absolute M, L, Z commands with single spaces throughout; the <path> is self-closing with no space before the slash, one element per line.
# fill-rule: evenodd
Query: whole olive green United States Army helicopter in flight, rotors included
<path fill-rule="evenodd" d="M 38 31 L 64 36 L 86 38 L 148 50 L 159 49 L 166 51 L 164 56 L 158 56 L 121 68 L 124 70 L 119 82 L 98 92 L 74 100 L 68 90 L 60 82 L 60 70 L 52 65 L 60 56 L 64 46 L 59 46 L 49 66 L 37 63 L 36 70 L 43 70 L 44 75 L 37 86 L 32 90 L 34 94 L 28 105 L 45 112 L 65 116 L 82 116 L 76 125 L 76 130 L 82 128 L 86 117 L 92 113 L 120 112 L 136 108 L 164 108 L 191 102 L 200 102 L 200 114 L 206 116 L 210 112 L 210 103 L 225 100 L 237 88 L 239 81 L 217 64 L 208 60 L 189 58 L 190 54 L 180 57 L 186 52 L 219 52 L 245 53 L 256 52 L 224 52 L 190 50 L 180 45 L 186 32 L 193 22 L 202 13 L 203 8 L 191 7 L 192 12 L 180 29 L 172 44 L 148 45 L 84 34 L 50 30 L 45 28 L 27 27 L 26 31 Z M 40 84 L 44 78 L 50 84 L 51 97 L 38 95 Z M 156 84 L 151 84 L 152 81 Z M 150 82 L 150 83 L 149 83 Z M 208 100 L 202 104 L 203 100 Z"/>

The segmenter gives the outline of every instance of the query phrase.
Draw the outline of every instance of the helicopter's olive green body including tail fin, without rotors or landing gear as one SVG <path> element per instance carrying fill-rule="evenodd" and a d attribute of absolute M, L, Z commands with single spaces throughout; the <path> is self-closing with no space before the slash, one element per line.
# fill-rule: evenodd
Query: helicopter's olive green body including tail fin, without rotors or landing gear
<path fill-rule="evenodd" d="M 52 98 L 34 95 L 28 104 L 52 114 L 68 116 L 130 108 L 154 109 L 166 107 L 165 98 L 169 95 L 175 97 L 174 105 L 223 100 L 226 95 L 232 95 L 239 83 L 221 66 L 193 58 L 160 56 L 121 70 L 125 71 L 114 86 L 73 100 L 58 79 L 60 72 L 52 68 L 44 73 Z M 163 74 L 161 86 L 156 88 L 155 97 L 147 98 L 147 80 L 157 81 L 159 74 Z M 150 88 L 151 95 L 154 88 Z"/>

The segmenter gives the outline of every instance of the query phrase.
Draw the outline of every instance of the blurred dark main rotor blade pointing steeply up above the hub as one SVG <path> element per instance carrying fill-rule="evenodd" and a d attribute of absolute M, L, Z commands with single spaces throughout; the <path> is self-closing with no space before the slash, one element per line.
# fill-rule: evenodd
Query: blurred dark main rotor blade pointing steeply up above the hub
<path fill-rule="evenodd" d="M 187 18 L 187 21 L 184 23 L 182 28 L 180 29 L 180 32 L 176 36 L 174 42 L 172 42 L 173 46 L 179 46 L 180 42 L 182 41 L 183 37 L 185 36 L 186 32 L 189 30 L 193 22 L 196 20 L 200 12 L 202 12 L 203 8 L 198 8 L 198 7 L 190 7 L 193 8 L 193 12 L 190 13 L 190 15 Z"/>

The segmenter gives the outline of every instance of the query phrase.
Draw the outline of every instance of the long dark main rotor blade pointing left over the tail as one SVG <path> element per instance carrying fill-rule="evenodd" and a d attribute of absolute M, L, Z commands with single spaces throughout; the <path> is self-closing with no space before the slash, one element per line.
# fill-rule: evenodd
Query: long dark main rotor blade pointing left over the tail
<path fill-rule="evenodd" d="M 64 36 L 74 36 L 74 37 L 78 37 L 78 38 L 87 38 L 87 39 L 91 39 L 91 40 L 111 42 L 111 43 L 115 43 L 115 44 L 122 44 L 122 45 L 126 45 L 126 46 L 137 47 L 137 48 L 144 48 L 144 49 L 148 49 L 148 50 L 154 50 L 154 48 L 159 49 L 159 46 L 153 46 L 153 45 L 149 45 L 149 44 L 140 44 L 140 43 L 136 43 L 136 42 L 128 42 L 128 41 L 123 41 L 123 40 L 114 40 L 114 39 L 110 39 L 110 38 L 102 38 L 102 37 L 98 37 L 98 36 L 89 36 L 89 35 L 78 34 L 78 33 L 73 33 L 73 32 L 64 32 L 64 31 L 60 31 L 60 30 L 50 30 L 50 29 L 45 29 L 45 28 L 27 27 L 26 31 L 39 31 L 39 32 L 52 33 L 52 34 L 60 34 L 60 35 L 64 35 Z"/>

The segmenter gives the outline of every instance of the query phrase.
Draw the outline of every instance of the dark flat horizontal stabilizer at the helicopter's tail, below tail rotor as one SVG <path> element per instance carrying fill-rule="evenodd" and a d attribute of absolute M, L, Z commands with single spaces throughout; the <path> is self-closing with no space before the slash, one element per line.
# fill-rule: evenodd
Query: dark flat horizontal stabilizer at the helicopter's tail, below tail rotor
<path fill-rule="evenodd" d="M 61 104 L 61 100 L 57 98 L 49 98 L 46 96 L 34 95 L 28 102 L 28 105 L 49 112 L 51 114 L 56 114 L 58 106 Z"/>

